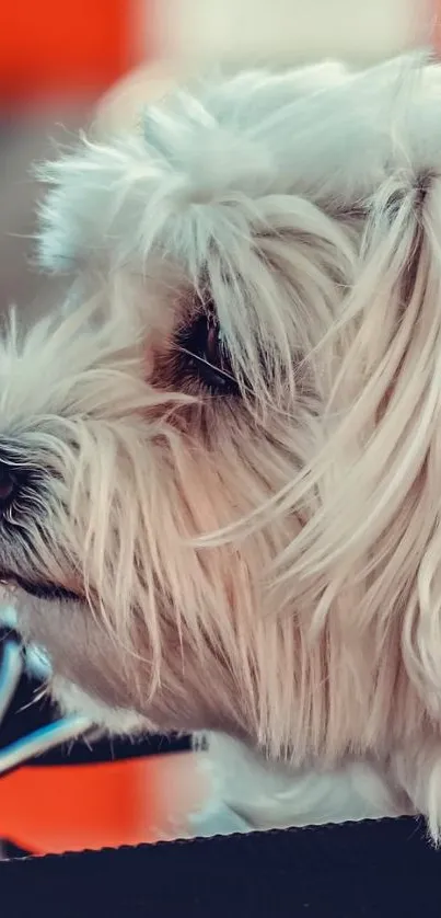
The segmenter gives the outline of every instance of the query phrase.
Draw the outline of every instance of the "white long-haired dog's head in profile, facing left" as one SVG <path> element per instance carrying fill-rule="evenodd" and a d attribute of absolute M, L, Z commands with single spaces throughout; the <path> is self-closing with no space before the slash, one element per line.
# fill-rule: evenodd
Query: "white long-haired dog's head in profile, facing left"
<path fill-rule="evenodd" d="M 2 575 L 65 707 L 371 762 L 434 838 L 440 111 L 438 67 L 329 65 L 84 141 L 42 238 L 82 303 L 0 363 Z"/>

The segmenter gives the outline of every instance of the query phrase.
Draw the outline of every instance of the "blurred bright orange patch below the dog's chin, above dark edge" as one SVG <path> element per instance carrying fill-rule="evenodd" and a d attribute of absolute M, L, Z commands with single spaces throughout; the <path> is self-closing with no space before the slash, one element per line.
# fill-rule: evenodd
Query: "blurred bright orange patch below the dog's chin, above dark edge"
<path fill-rule="evenodd" d="M 0 841 L 38 856 L 169 840 L 201 793 L 190 753 L 25 766 L 0 779 Z"/>

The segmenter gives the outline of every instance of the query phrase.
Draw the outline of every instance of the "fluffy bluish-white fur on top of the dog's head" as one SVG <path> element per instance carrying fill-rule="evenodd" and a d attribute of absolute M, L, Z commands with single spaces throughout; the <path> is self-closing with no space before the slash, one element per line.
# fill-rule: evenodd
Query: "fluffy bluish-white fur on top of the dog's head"
<path fill-rule="evenodd" d="M 416 130 L 422 62 L 388 62 L 375 80 L 332 62 L 239 73 L 146 107 L 137 131 L 108 142 L 83 136 L 38 170 L 51 186 L 42 264 L 58 269 L 91 253 L 142 264 L 158 245 L 198 275 L 211 243 L 232 254 L 249 232 L 268 229 L 269 200 L 279 220 L 287 195 L 327 209 L 362 205 L 394 162 L 413 171 L 413 147 L 420 168 L 432 165 L 440 137 L 427 144 L 428 131 L 422 139 Z"/>

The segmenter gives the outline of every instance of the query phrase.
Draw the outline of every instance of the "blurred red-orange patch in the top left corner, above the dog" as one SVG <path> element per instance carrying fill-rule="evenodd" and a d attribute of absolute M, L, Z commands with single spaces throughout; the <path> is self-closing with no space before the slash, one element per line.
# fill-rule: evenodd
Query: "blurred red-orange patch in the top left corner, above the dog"
<path fill-rule="evenodd" d="M 154 2 L 3 0 L 0 104 L 98 94 L 149 56 Z"/>

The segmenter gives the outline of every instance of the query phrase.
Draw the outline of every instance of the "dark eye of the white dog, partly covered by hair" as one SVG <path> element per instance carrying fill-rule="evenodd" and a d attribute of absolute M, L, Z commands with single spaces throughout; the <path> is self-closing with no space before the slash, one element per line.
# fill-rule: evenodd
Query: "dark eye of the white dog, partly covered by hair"
<path fill-rule="evenodd" d="M 183 329 L 178 340 L 185 369 L 197 376 L 213 394 L 239 394 L 228 349 L 217 319 L 201 313 Z"/>

